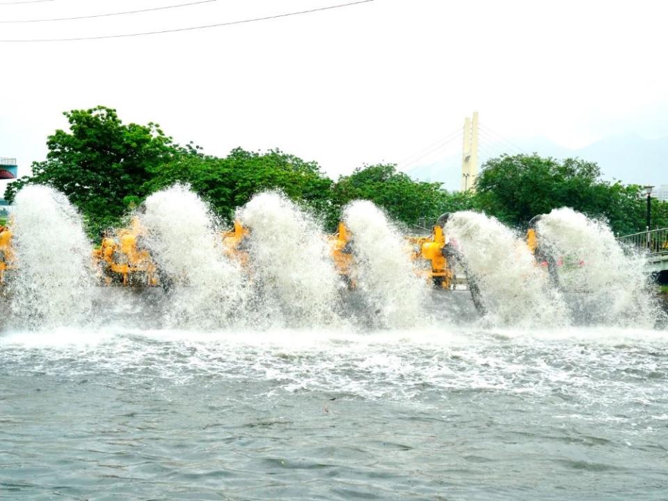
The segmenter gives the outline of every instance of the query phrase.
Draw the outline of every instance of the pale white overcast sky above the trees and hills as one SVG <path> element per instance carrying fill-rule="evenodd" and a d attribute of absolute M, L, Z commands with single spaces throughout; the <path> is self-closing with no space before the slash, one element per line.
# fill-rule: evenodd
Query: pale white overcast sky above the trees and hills
<path fill-rule="evenodd" d="M 48 0 L 6 5 L 0 39 L 119 35 L 347 0 Z M 26 0 L 24 0 L 26 1 Z M 69 109 L 103 104 L 211 154 L 280 147 L 330 175 L 400 161 L 481 122 L 578 148 L 668 136 L 661 1 L 374 0 L 234 26 L 71 42 L 0 42 L 0 156 L 45 156 Z M 456 148 L 461 148 L 456 146 Z M 0 193 L 1 194 L 1 193 Z"/>

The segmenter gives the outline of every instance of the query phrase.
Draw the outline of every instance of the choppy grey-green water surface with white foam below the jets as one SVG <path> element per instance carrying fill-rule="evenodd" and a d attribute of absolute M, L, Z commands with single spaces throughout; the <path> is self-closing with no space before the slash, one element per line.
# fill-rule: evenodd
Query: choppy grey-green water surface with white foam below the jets
<path fill-rule="evenodd" d="M 0 498 L 668 498 L 668 333 L 0 336 Z"/>

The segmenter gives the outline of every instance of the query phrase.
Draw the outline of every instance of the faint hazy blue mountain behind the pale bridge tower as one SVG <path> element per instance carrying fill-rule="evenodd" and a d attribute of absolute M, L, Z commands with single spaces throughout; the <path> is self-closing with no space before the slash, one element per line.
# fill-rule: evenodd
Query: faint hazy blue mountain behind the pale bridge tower
<path fill-rule="evenodd" d="M 624 134 L 603 138 L 577 150 L 539 137 L 514 139 L 513 143 L 525 152 L 536 152 L 541 157 L 578 157 L 595 161 L 606 180 L 619 180 L 623 184 L 668 184 L 668 137 L 645 139 L 635 134 Z M 506 151 L 502 143 L 489 147 L 495 151 Z M 516 152 L 518 149 L 509 153 Z M 489 156 L 481 151 L 481 164 Z M 446 189 L 459 189 L 460 164 L 459 156 L 447 157 L 435 164 L 415 166 L 406 173 L 418 180 L 443 182 Z"/>

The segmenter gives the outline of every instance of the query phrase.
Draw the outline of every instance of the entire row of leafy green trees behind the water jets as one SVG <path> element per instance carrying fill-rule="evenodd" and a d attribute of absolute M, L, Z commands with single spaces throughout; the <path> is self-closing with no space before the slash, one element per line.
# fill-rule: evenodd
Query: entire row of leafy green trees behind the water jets
<path fill-rule="evenodd" d="M 363 166 L 335 182 L 317 162 L 278 149 L 235 148 L 214 157 L 192 144 L 173 143 L 152 122 L 125 125 L 116 110 L 104 106 L 64 115 L 69 130 L 47 138 L 45 161 L 33 163 L 30 177 L 9 184 L 5 198 L 11 202 L 26 184 L 53 186 L 81 211 L 92 235 L 120 224 L 129 209 L 175 182 L 190 184 L 228 220 L 254 193 L 277 189 L 330 230 L 342 208 L 357 199 L 371 200 L 406 225 L 420 220 L 429 225 L 443 212 L 475 209 L 525 227 L 536 214 L 564 206 L 605 218 L 620 234 L 642 231 L 646 224 L 640 186 L 606 182 L 596 164 L 580 159 L 502 155 L 482 166 L 477 191 L 452 193 L 437 182 L 412 180 L 395 164 Z M 668 226 L 668 203 L 652 200 L 652 221 L 653 227 Z"/>

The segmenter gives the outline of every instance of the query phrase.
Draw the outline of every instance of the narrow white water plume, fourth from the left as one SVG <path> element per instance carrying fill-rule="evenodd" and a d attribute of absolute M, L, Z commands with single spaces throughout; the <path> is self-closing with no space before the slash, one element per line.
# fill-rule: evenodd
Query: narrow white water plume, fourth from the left
<path fill-rule="evenodd" d="M 344 209 L 352 233 L 353 280 L 374 327 L 400 328 L 424 321 L 427 283 L 415 273 L 401 232 L 368 200 Z"/>

